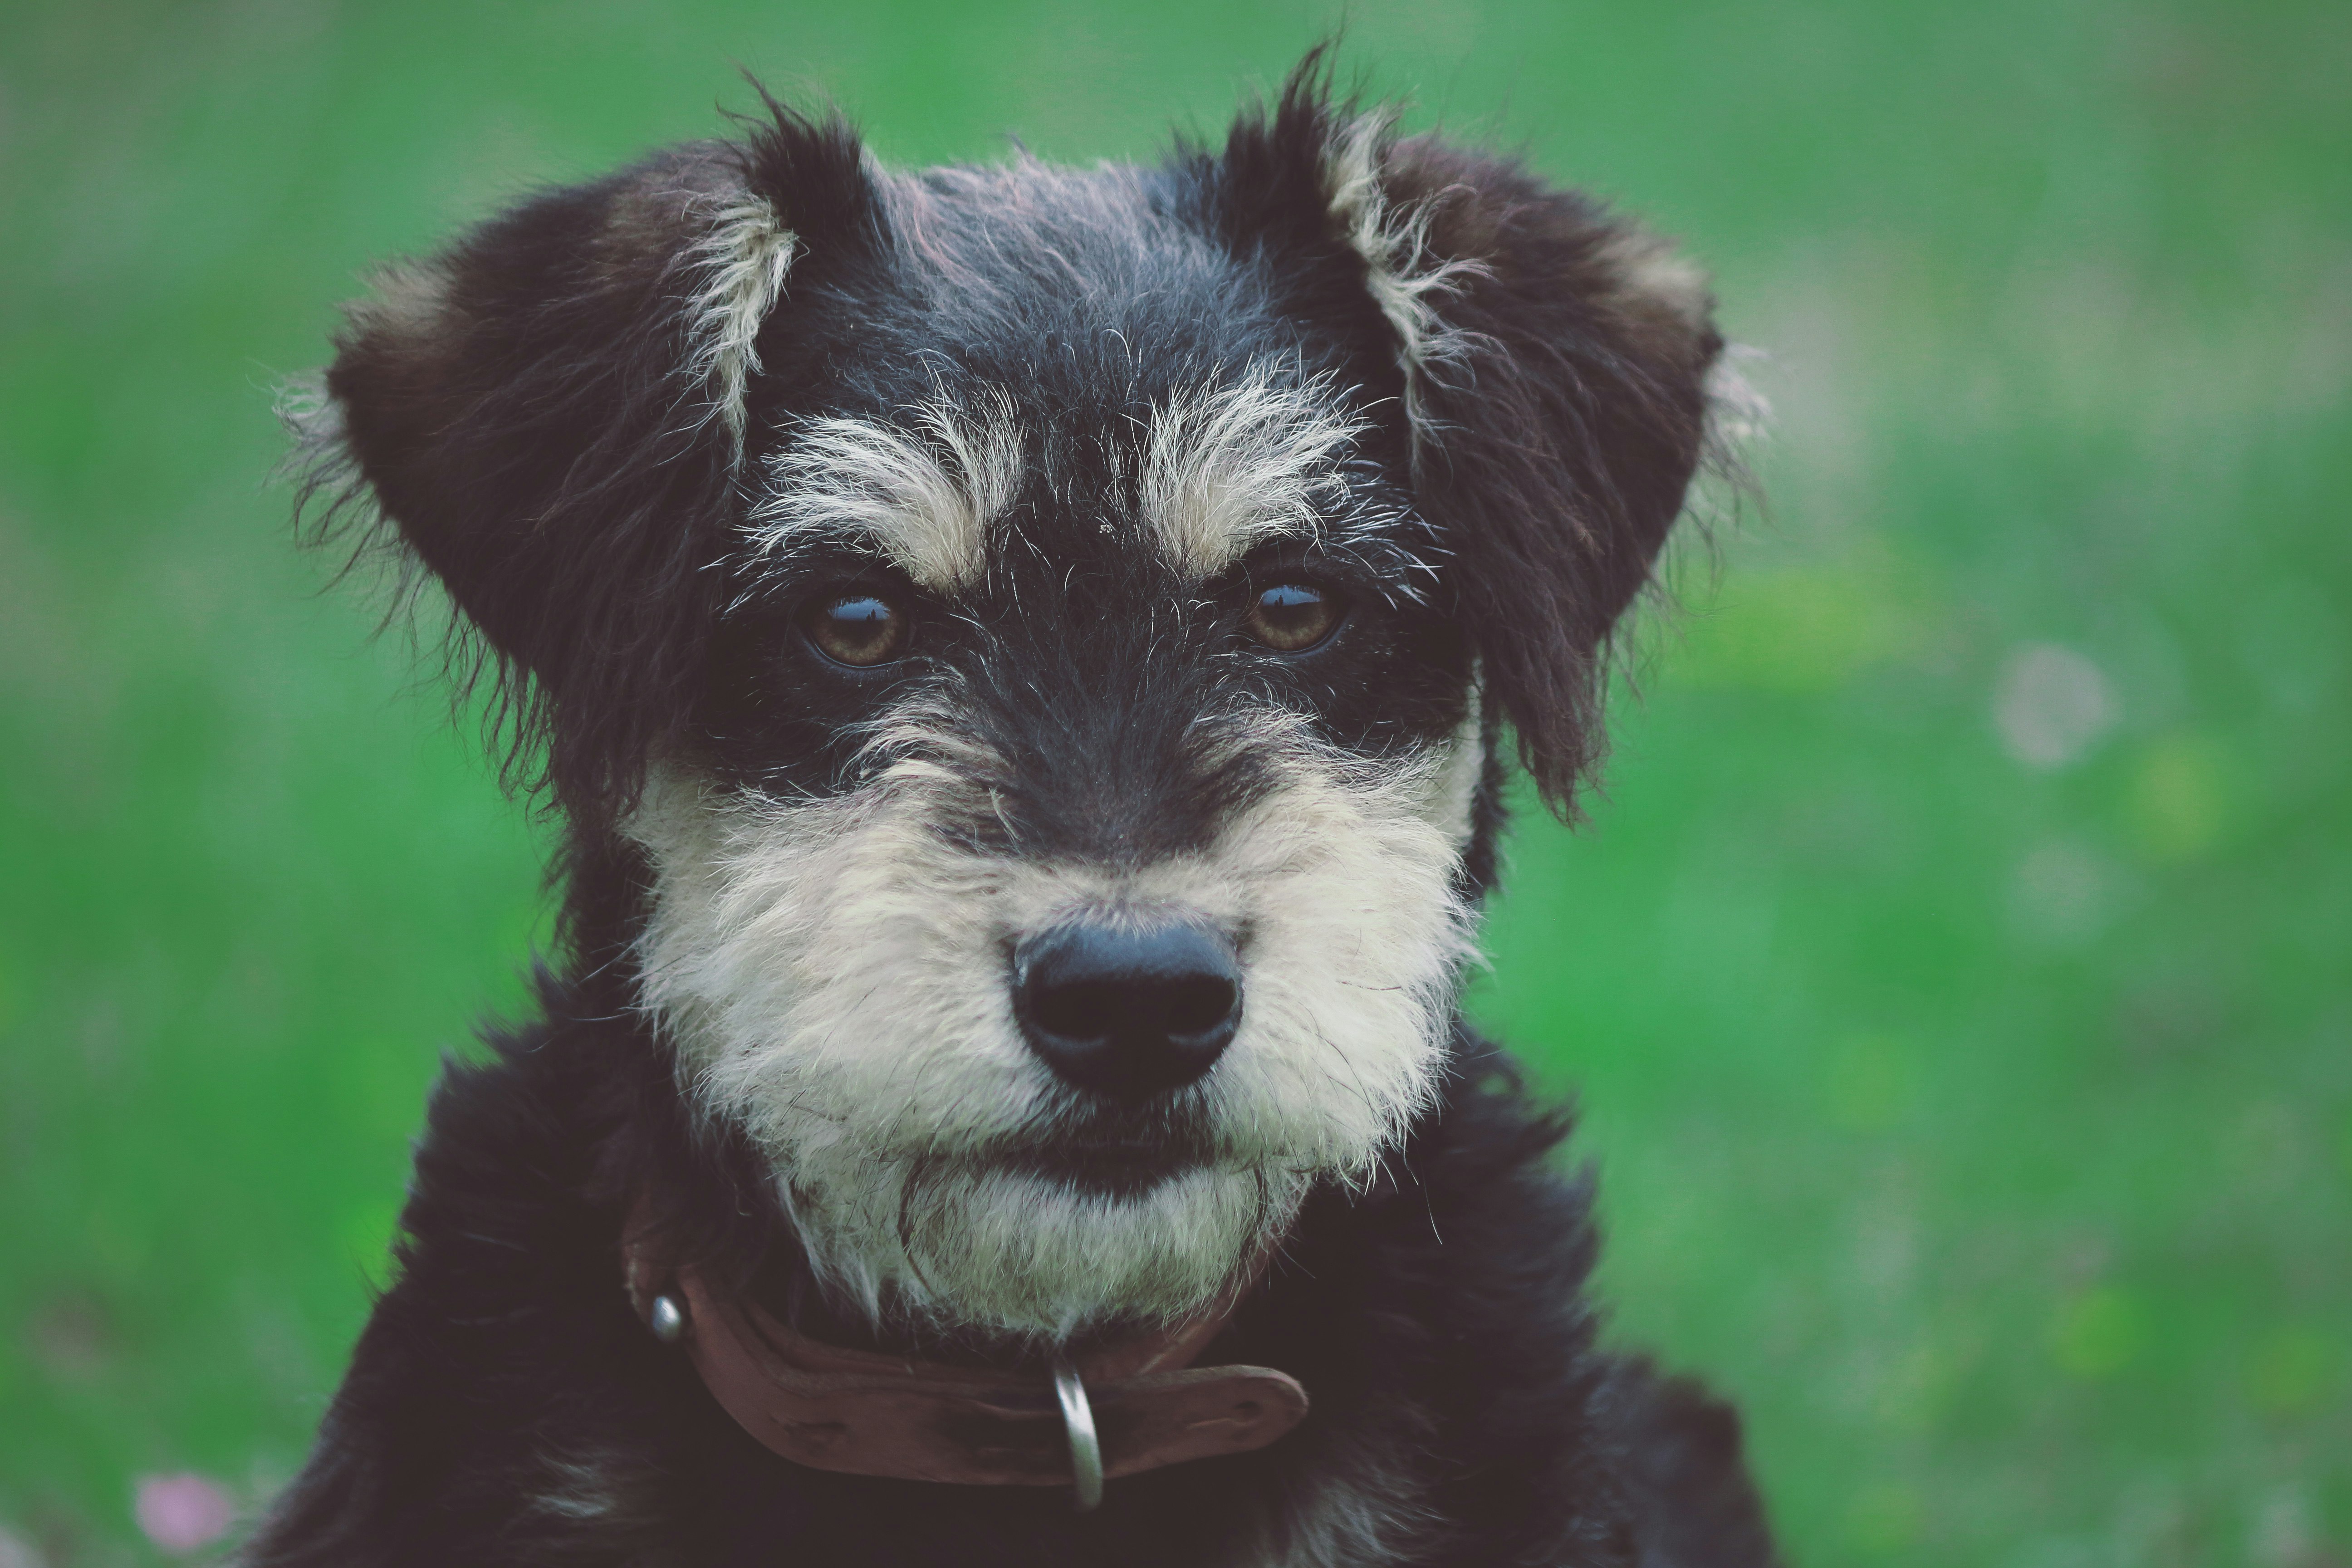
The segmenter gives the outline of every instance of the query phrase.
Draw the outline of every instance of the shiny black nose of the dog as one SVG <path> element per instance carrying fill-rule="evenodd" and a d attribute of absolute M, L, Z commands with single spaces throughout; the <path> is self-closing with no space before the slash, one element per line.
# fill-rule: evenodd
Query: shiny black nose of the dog
<path fill-rule="evenodd" d="M 1242 964 L 1202 926 L 1070 922 L 1014 950 L 1014 1009 L 1063 1081 L 1143 1098 L 1216 1063 L 1242 1020 Z"/>

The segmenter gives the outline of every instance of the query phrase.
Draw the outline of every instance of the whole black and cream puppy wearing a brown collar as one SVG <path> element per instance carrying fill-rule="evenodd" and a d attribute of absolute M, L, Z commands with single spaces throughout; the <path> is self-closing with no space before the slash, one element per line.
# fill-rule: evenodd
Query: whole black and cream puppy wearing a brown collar
<path fill-rule="evenodd" d="M 245 1561 L 1773 1561 L 1456 1011 L 1719 350 L 1312 61 L 1160 167 L 769 103 L 386 273 L 313 524 L 454 599 L 564 959 Z"/>

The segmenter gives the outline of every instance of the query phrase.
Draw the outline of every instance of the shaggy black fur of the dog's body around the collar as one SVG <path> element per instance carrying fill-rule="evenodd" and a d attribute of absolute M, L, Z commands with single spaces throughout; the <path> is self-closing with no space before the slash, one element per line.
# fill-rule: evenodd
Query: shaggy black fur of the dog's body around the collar
<path fill-rule="evenodd" d="M 1566 1121 L 1531 1112 L 1470 1037 L 1395 1175 L 1317 1199 L 1207 1356 L 1315 1389 L 1272 1450 L 1120 1481 L 1091 1516 L 1054 1490 L 795 1469 L 621 1291 L 621 1215 L 647 1175 L 753 1192 L 696 1147 L 659 1053 L 607 1011 L 621 1004 L 619 985 L 548 980 L 546 1023 L 452 1065 L 400 1279 L 310 1469 L 249 1549 L 256 1568 L 1247 1561 L 1279 1552 L 1334 1483 L 1404 1514 L 1392 1554 L 1367 1561 L 1771 1561 L 1736 1418 L 1595 1352 L 1590 1182 L 1550 1161 Z M 548 1502 L 567 1493 L 604 1505 Z"/>

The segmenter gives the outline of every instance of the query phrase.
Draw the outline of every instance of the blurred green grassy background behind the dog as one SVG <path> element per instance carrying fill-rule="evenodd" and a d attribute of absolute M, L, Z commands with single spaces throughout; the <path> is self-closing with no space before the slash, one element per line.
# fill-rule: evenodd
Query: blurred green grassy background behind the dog
<path fill-rule="evenodd" d="M 1613 1335 L 1790 1556 L 2352 1561 L 2352 9 L 1348 7 L 1416 122 L 1686 237 L 1773 400 L 1479 1009 Z M 1148 158 L 1327 5 L 0 9 L 0 1563 L 254 1507 L 532 830 L 287 541 L 332 308 L 743 63 L 896 162 Z"/>

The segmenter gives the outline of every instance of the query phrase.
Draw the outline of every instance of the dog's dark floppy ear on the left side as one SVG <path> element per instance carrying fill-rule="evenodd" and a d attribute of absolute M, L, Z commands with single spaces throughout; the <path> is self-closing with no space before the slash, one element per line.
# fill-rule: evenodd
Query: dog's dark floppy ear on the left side
<path fill-rule="evenodd" d="M 372 501 L 447 585 L 510 778 L 572 811 L 626 806 L 691 710 L 760 331 L 873 233 L 856 136 L 769 108 L 386 273 L 306 433 L 327 529 Z"/>

